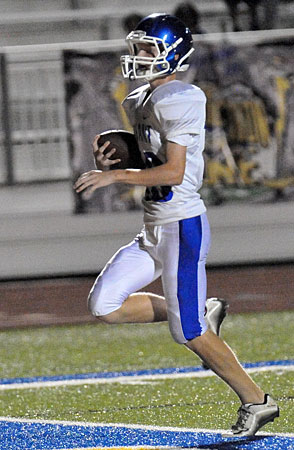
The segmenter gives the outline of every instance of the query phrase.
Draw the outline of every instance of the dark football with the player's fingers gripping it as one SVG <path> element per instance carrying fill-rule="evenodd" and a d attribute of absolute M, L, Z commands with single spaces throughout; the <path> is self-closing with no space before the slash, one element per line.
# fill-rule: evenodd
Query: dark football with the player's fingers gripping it
<path fill-rule="evenodd" d="M 143 169 L 142 156 L 133 133 L 110 130 L 97 135 L 93 142 L 97 169 Z"/>

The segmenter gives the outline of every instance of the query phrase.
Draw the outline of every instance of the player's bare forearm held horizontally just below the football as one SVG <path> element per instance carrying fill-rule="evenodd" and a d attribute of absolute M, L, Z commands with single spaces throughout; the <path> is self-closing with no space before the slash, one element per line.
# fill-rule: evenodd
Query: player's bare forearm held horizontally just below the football
<path fill-rule="evenodd" d="M 178 168 L 163 164 L 151 169 L 114 170 L 114 182 L 139 186 L 174 186 L 181 184 L 183 173 Z"/>

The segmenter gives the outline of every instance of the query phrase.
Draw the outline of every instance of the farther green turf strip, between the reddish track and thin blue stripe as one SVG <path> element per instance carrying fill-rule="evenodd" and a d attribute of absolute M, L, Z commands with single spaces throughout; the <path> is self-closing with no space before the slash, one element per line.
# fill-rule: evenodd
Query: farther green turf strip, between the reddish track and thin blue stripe
<path fill-rule="evenodd" d="M 294 359 L 294 312 L 229 315 L 222 335 L 241 361 Z M 191 366 L 167 324 L 2 331 L 0 378 Z"/>

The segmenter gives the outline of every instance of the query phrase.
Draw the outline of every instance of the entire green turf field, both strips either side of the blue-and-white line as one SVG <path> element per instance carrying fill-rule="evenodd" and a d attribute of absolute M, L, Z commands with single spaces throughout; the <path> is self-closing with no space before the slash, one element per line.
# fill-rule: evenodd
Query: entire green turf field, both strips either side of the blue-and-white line
<path fill-rule="evenodd" d="M 229 316 L 225 340 L 241 361 L 294 359 L 294 312 Z M 166 324 L 47 327 L 0 333 L 0 377 L 199 365 L 175 344 Z M 281 417 L 266 431 L 292 432 L 294 373 L 254 378 L 279 400 Z M 238 401 L 217 378 L 147 384 L 83 385 L 4 391 L 0 415 L 39 419 L 227 428 Z"/>

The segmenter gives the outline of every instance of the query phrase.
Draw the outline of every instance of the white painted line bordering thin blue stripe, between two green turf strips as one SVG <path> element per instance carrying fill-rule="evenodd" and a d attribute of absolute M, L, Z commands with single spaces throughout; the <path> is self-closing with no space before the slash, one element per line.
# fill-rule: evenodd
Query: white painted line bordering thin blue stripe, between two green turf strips
<path fill-rule="evenodd" d="M 260 366 L 247 368 L 248 373 L 260 372 L 293 372 L 294 365 L 276 365 L 276 366 Z M 33 382 L 18 382 L 11 384 L 0 384 L 0 391 L 12 389 L 40 389 L 60 386 L 80 386 L 86 384 L 145 384 L 153 381 L 164 381 L 179 378 L 207 378 L 216 376 L 211 370 L 203 370 L 199 372 L 184 372 L 184 373 L 170 373 L 170 374 L 148 374 L 148 375 L 126 375 L 118 377 L 105 378 L 76 378 L 64 379 L 57 381 L 33 381 Z"/>

